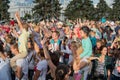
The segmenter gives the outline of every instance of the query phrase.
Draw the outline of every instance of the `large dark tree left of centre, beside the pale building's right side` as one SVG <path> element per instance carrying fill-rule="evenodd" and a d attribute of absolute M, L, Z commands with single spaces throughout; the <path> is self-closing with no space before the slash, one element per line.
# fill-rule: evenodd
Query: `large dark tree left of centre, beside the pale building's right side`
<path fill-rule="evenodd" d="M 62 8 L 59 0 L 35 0 L 34 3 L 36 3 L 33 8 L 34 15 L 43 19 L 60 16 Z"/>

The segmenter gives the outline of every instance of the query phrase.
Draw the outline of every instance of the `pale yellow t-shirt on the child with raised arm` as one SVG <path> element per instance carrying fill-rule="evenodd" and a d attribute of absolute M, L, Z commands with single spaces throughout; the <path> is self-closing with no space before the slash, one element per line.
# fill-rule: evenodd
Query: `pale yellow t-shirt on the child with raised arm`
<path fill-rule="evenodd" d="M 21 35 L 18 38 L 18 48 L 19 52 L 27 53 L 27 41 L 28 41 L 29 34 L 28 32 L 23 29 Z"/>

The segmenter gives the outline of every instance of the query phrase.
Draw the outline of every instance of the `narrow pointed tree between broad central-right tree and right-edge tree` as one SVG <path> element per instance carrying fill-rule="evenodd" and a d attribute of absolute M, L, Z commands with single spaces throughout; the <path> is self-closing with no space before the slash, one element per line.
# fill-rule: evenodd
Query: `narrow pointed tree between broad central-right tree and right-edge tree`
<path fill-rule="evenodd" d="M 96 20 L 99 20 L 102 17 L 109 19 L 110 11 L 111 11 L 111 8 L 107 5 L 106 1 L 100 0 L 95 10 L 96 12 L 95 15 L 97 17 Z"/>

